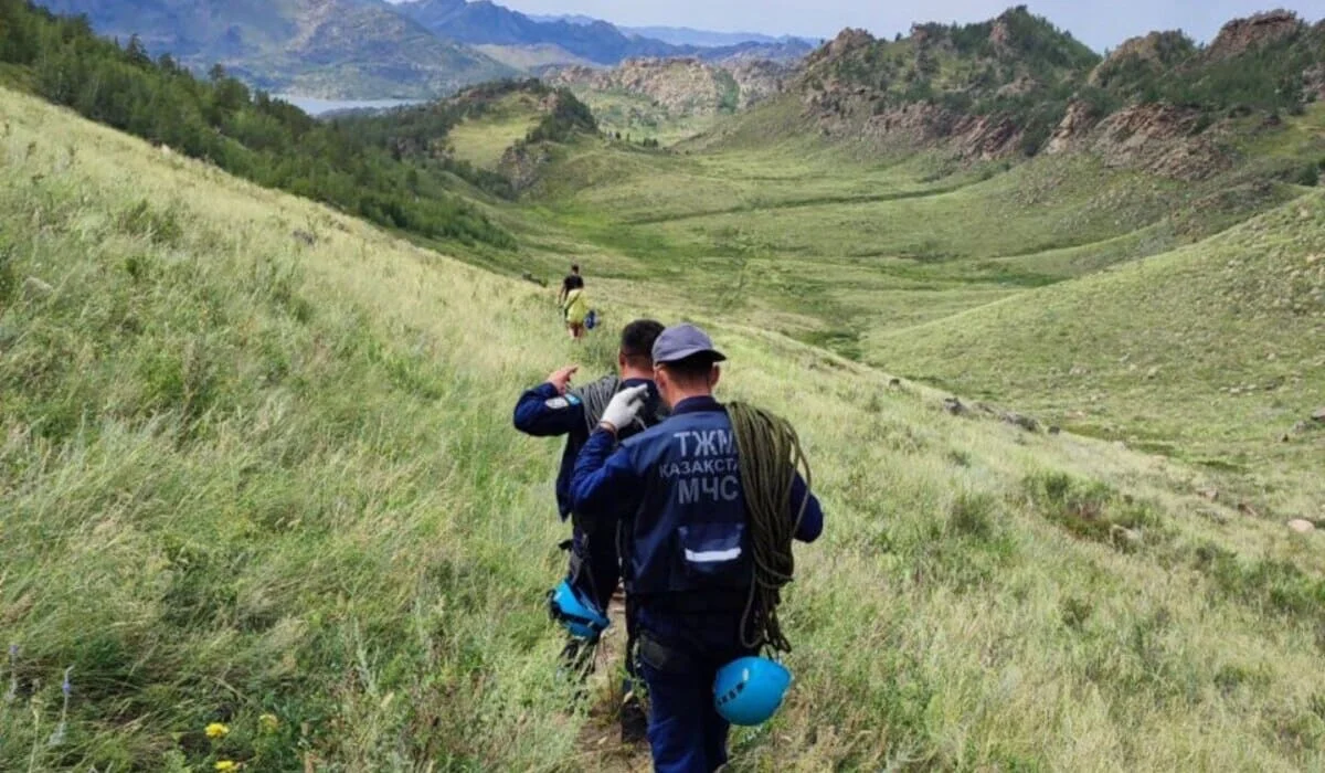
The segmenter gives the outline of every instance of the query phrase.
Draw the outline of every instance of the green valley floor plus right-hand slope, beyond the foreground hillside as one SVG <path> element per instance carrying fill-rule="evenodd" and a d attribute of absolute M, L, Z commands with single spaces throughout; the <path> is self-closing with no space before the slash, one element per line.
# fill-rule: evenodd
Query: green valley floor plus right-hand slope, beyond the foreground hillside
<path fill-rule="evenodd" d="M 1312 220 L 1280 217 L 1264 244 L 1211 239 L 1257 215 L 1298 211 L 1296 200 L 1313 190 L 1298 183 L 1314 184 L 1325 162 L 1322 126 L 1321 105 L 1273 121 L 1226 118 L 1223 166 L 1179 180 L 1089 143 L 1016 162 L 954 159 L 943 149 L 878 155 L 868 141 L 818 135 L 803 105 L 786 97 L 670 152 L 582 149 L 549 176 L 538 203 L 549 228 L 592 243 L 574 253 L 619 280 L 611 292 L 623 297 L 717 309 L 962 395 L 1200 463 L 1256 506 L 1275 503 L 1292 516 L 1318 508 L 1308 473 L 1317 436 L 1281 439 L 1325 403 L 1313 387 L 1293 386 L 1321 381 L 1310 375 L 1320 367 L 1320 301 L 1308 294 L 1304 313 L 1261 309 L 1260 325 L 1244 326 L 1238 306 L 1196 302 L 1215 290 L 1186 274 L 1136 274 L 1147 292 L 1132 294 L 1106 292 L 1113 274 L 1097 274 L 1174 251 L 1220 267 L 1222 255 L 1261 255 L 1280 243 L 1288 255 L 1276 260 L 1306 260 Z M 1297 269 L 1271 280 L 1260 268 L 1240 260 L 1227 281 L 1255 276 L 1283 288 Z M 1151 297 L 1183 301 L 1138 313 L 1133 298 Z M 1051 313 L 1064 298 L 1071 310 Z M 1207 333 L 1183 338 L 1195 322 Z M 1218 367 L 1194 367 L 1230 329 L 1239 333 Z M 1244 347 L 1260 329 L 1281 342 L 1273 353 Z M 1277 365 L 1263 367 L 1271 354 Z M 1212 399 L 1232 388 L 1236 410 Z"/>

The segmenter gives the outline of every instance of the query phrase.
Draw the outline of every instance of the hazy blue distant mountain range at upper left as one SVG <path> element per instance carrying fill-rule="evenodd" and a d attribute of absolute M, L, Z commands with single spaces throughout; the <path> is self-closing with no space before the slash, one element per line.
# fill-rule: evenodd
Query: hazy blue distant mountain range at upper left
<path fill-rule="evenodd" d="M 136 34 L 154 54 L 306 97 L 427 98 L 551 65 L 612 66 L 635 57 L 792 61 L 796 38 L 697 30 L 660 40 L 588 17 L 534 19 L 480 0 L 37 0 L 83 13 L 102 34 Z M 741 38 L 741 40 L 737 40 Z M 685 40 L 689 42 L 670 42 Z M 700 42 L 708 41 L 708 42 Z M 721 45 L 719 45 L 721 44 Z"/>

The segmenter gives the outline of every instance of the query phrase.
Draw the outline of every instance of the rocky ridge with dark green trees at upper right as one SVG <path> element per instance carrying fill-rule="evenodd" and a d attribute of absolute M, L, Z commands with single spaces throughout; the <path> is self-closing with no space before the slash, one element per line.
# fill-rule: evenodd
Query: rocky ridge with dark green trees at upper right
<path fill-rule="evenodd" d="M 1020 7 L 896 41 L 843 30 L 788 91 L 829 138 L 970 160 L 1089 150 L 1202 179 L 1230 163 L 1248 126 L 1325 98 L 1325 23 L 1276 11 L 1230 21 L 1204 48 L 1157 32 L 1101 58 Z"/>

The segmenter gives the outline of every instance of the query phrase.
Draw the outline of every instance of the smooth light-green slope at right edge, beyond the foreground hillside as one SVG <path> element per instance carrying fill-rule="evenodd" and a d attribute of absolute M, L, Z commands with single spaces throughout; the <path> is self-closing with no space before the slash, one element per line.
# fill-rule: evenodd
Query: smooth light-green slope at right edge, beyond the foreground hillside
<path fill-rule="evenodd" d="M 1313 194 L 1175 252 L 865 346 L 893 370 L 1069 427 L 1268 475 L 1309 469 L 1325 449 L 1325 432 L 1291 434 L 1325 406 L 1322 341 L 1325 199 Z"/>

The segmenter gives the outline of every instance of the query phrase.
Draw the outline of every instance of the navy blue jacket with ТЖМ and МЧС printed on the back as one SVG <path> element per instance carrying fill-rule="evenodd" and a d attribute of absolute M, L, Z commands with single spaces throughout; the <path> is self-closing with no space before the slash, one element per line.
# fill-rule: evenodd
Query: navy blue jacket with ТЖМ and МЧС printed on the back
<path fill-rule="evenodd" d="M 751 558 L 731 420 L 717 400 L 682 400 L 672 418 L 620 446 L 594 432 L 571 491 L 582 517 L 624 521 L 625 587 L 651 634 L 690 650 L 733 647 Z M 804 497 L 798 475 L 791 506 Z M 822 532 L 823 509 L 811 496 L 796 538 L 812 542 Z M 696 610 L 689 601 L 697 598 L 718 601 Z"/>

